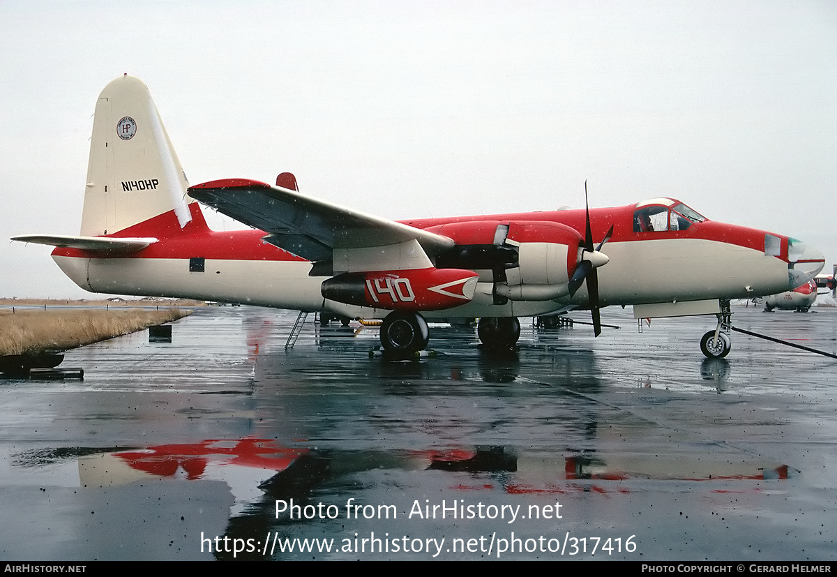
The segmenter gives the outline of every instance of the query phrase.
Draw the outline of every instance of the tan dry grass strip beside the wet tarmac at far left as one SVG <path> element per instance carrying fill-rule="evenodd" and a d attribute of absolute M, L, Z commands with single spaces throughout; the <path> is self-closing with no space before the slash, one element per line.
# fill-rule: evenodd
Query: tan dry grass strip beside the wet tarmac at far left
<path fill-rule="evenodd" d="M 0 310 L 0 356 L 82 347 L 191 313 L 182 308 L 4 309 Z"/>

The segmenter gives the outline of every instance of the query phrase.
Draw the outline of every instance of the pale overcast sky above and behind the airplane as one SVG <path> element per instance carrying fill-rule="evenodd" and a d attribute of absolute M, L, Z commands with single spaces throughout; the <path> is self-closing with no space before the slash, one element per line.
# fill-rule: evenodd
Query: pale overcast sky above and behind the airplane
<path fill-rule="evenodd" d="M 78 234 L 92 114 L 151 90 L 191 183 L 392 219 L 680 198 L 837 260 L 837 2 L 0 2 L 3 237 Z M 218 224 L 221 226 L 223 224 Z M 0 296 L 90 296 L 0 240 Z"/>

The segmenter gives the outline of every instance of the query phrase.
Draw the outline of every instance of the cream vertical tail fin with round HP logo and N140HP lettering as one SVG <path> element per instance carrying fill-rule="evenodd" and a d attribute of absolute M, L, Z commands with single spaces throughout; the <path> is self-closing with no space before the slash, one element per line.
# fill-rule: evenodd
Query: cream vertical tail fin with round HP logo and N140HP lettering
<path fill-rule="evenodd" d="M 114 234 L 172 210 L 183 228 L 188 186 L 148 87 L 128 75 L 110 82 L 96 102 L 81 234 Z"/>

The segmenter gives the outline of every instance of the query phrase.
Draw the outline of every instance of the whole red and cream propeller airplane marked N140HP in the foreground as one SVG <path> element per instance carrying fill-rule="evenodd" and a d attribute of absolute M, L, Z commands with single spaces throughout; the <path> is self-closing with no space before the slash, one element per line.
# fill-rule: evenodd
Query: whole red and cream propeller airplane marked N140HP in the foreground
<path fill-rule="evenodd" d="M 254 227 L 208 228 L 196 200 Z M 769 295 L 823 268 L 814 247 L 721 224 L 673 198 L 612 209 L 413 219 L 343 208 L 298 191 L 230 178 L 189 187 L 146 85 L 125 75 L 95 109 L 78 236 L 54 245 L 88 291 L 182 296 L 383 318 L 383 348 L 428 344 L 426 319 L 479 318 L 480 340 L 508 347 L 517 317 L 633 305 L 634 316 L 716 315 L 704 352 L 729 351 L 722 303 Z"/>

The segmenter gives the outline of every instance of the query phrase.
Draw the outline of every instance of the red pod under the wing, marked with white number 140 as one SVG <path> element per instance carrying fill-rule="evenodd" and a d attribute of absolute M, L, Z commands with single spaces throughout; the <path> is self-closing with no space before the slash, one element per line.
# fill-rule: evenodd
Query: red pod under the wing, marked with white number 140
<path fill-rule="evenodd" d="M 463 269 L 347 272 L 323 281 L 322 296 L 359 307 L 439 311 L 474 298 L 479 276 Z"/>

